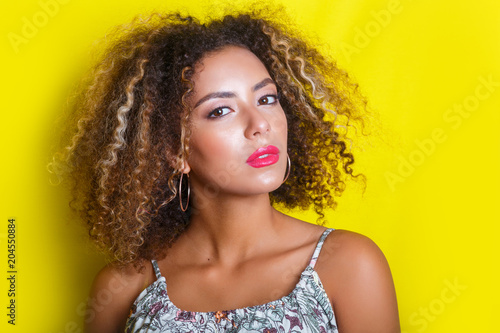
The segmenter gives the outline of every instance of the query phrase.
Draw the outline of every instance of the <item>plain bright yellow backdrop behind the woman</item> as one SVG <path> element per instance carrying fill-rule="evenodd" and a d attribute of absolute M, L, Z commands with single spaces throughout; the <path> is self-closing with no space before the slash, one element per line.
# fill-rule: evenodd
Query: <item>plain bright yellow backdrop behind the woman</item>
<path fill-rule="evenodd" d="M 55 121 L 93 41 L 137 13 L 204 12 L 196 1 L 60 2 L 0 5 L 2 332 L 80 332 L 81 306 L 103 265 L 45 170 Z M 330 225 L 365 234 L 385 252 L 404 332 L 497 331 L 500 4 L 285 3 L 300 29 L 360 83 L 375 115 L 371 136 L 354 145 L 367 190 L 361 195 L 354 184 L 329 212 Z M 26 22 L 38 27 L 29 31 Z M 14 35 L 27 37 L 16 45 Z M 18 236 L 15 327 L 6 323 L 9 217 Z"/>

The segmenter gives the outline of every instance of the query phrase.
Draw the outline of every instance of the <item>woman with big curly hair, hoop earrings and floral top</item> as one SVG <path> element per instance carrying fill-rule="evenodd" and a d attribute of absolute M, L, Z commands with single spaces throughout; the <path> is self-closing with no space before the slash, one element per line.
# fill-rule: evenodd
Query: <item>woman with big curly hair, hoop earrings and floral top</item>
<path fill-rule="evenodd" d="M 373 242 L 272 206 L 321 220 L 354 177 L 345 134 L 364 100 L 347 75 L 250 15 L 152 15 L 120 33 L 61 157 L 113 259 L 87 331 L 399 332 Z"/>

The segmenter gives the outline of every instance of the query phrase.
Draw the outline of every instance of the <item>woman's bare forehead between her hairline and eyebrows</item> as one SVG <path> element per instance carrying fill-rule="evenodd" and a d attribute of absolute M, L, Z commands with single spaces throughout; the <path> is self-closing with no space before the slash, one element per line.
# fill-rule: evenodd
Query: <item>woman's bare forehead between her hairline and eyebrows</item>
<path fill-rule="evenodd" d="M 195 94 L 244 83 L 255 84 L 270 77 L 266 67 L 251 51 L 227 46 L 204 56 L 194 67 Z"/>

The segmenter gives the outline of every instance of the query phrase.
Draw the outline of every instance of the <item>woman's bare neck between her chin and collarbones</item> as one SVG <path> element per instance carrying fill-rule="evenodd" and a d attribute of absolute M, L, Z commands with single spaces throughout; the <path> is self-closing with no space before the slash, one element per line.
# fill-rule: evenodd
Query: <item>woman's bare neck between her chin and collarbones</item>
<path fill-rule="evenodd" d="M 193 199 L 193 214 L 184 236 L 196 244 L 202 260 L 241 262 L 278 233 L 282 214 L 271 206 L 267 193 Z"/>

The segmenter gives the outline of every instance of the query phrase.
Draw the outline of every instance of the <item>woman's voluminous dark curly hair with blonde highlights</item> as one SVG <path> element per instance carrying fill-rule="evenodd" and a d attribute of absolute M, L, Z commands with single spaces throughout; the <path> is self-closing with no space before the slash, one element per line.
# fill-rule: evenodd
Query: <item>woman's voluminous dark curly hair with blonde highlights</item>
<path fill-rule="evenodd" d="M 208 52 L 244 47 L 277 84 L 293 167 L 272 204 L 314 207 L 321 220 L 346 177 L 356 177 L 346 134 L 366 109 L 357 84 L 288 26 L 262 17 L 136 18 L 115 31 L 82 81 L 69 144 L 52 167 L 68 176 L 90 238 L 118 264 L 162 258 L 189 223 L 173 199 L 189 154 L 193 68 Z"/>

